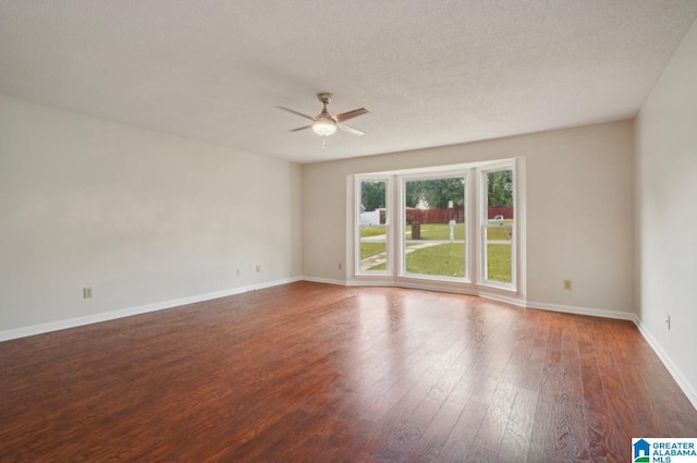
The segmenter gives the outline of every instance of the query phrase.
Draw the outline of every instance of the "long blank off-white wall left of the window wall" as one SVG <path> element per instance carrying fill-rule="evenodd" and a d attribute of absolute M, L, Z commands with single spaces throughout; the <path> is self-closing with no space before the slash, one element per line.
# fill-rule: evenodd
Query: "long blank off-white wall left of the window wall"
<path fill-rule="evenodd" d="M 0 95 L 0 338 L 298 278 L 301 215 L 298 165 Z"/>

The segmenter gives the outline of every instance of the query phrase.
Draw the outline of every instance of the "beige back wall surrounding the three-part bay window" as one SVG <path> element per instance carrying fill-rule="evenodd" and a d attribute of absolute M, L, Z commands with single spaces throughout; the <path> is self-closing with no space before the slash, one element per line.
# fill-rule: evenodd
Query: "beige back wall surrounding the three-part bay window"
<path fill-rule="evenodd" d="M 632 121 L 303 166 L 305 276 L 353 280 L 346 175 L 512 157 L 525 158 L 526 171 L 523 298 L 543 308 L 632 318 Z M 573 280 L 572 291 L 563 290 L 564 279 Z"/>

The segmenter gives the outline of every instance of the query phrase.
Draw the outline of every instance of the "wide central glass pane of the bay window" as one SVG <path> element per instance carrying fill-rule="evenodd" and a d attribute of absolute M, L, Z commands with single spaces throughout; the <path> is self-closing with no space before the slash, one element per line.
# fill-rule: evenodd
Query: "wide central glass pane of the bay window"
<path fill-rule="evenodd" d="M 465 278 L 465 178 L 404 182 L 406 275 Z"/>

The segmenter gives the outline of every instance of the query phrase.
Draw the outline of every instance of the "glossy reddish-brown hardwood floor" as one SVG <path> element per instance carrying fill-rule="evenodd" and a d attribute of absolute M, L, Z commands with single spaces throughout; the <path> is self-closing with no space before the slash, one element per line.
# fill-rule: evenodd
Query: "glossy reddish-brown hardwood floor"
<path fill-rule="evenodd" d="M 0 343 L 2 462 L 614 462 L 697 437 L 629 321 L 294 283 Z"/>

